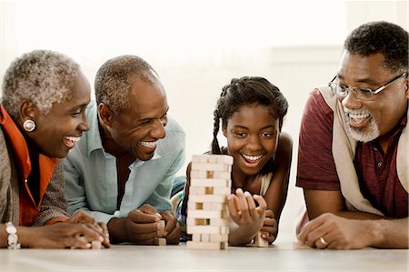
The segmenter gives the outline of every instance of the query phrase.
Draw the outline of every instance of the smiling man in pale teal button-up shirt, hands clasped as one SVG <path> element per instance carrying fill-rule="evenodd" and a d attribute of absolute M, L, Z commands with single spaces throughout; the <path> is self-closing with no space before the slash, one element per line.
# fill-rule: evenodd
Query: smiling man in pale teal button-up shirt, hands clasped
<path fill-rule="evenodd" d="M 86 109 L 90 130 L 65 158 L 68 211 L 105 222 L 113 243 L 152 245 L 159 220 L 167 243 L 179 243 L 170 194 L 185 132 L 167 116 L 165 87 L 145 60 L 122 55 L 98 70 L 95 98 Z"/>

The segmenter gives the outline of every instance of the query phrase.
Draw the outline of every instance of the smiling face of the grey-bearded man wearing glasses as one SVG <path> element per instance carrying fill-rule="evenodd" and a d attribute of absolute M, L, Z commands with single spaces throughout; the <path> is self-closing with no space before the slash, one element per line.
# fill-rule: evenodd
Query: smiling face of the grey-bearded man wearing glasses
<path fill-rule="evenodd" d="M 339 82 L 344 86 L 375 90 L 400 74 L 389 72 L 383 64 L 382 54 L 362 56 L 344 51 L 338 72 Z M 351 136 L 362 142 L 378 137 L 380 140 L 387 139 L 388 133 L 404 117 L 408 98 L 406 77 L 387 86 L 375 96 L 374 101 L 359 101 L 351 93 L 340 99 Z"/>

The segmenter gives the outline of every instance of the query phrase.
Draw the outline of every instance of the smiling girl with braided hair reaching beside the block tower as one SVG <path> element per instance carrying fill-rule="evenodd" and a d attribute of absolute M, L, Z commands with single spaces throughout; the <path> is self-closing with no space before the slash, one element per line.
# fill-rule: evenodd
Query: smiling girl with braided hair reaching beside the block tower
<path fill-rule="evenodd" d="M 277 237 L 293 148 L 291 136 L 281 132 L 287 108 L 280 90 L 257 76 L 232 79 L 217 101 L 214 139 L 208 153 L 234 157 L 233 192 L 228 197 L 233 219 L 229 231 L 232 246 L 248 244 L 259 230 L 269 244 Z M 220 129 L 227 146 L 219 146 Z M 190 164 L 186 172 L 183 219 L 187 211 Z"/>

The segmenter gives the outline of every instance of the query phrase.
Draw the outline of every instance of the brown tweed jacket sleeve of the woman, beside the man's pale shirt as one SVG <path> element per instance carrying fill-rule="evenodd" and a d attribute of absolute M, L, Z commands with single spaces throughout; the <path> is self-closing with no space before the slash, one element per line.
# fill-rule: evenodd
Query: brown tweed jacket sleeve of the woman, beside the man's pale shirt
<path fill-rule="evenodd" d="M 40 211 L 33 226 L 53 224 L 58 221 L 65 221 L 68 218 L 64 191 L 64 166 L 62 160 L 59 160 L 43 196 Z"/>

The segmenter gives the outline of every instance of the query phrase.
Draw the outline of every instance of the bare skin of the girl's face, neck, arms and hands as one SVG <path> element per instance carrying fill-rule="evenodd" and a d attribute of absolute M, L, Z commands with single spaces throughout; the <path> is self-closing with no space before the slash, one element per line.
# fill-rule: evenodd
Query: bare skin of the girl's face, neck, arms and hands
<path fill-rule="evenodd" d="M 223 153 L 234 156 L 232 179 L 235 195 L 228 197 L 230 217 L 229 244 L 246 245 L 257 231 L 273 243 L 277 237 L 277 226 L 284 207 L 289 170 L 291 165 L 292 140 L 278 129 L 278 119 L 268 107 L 258 104 L 241 106 L 223 126 L 228 147 Z M 278 144 L 278 142 L 280 144 Z M 244 156 L 260 156 L 245 159 Z M 275 157 L 276 170 L 264 196 L 261 189 L 260 171 L 271 157 Z M 189 194 L 190 168 L 187 167 L 186 194 Z"/>

